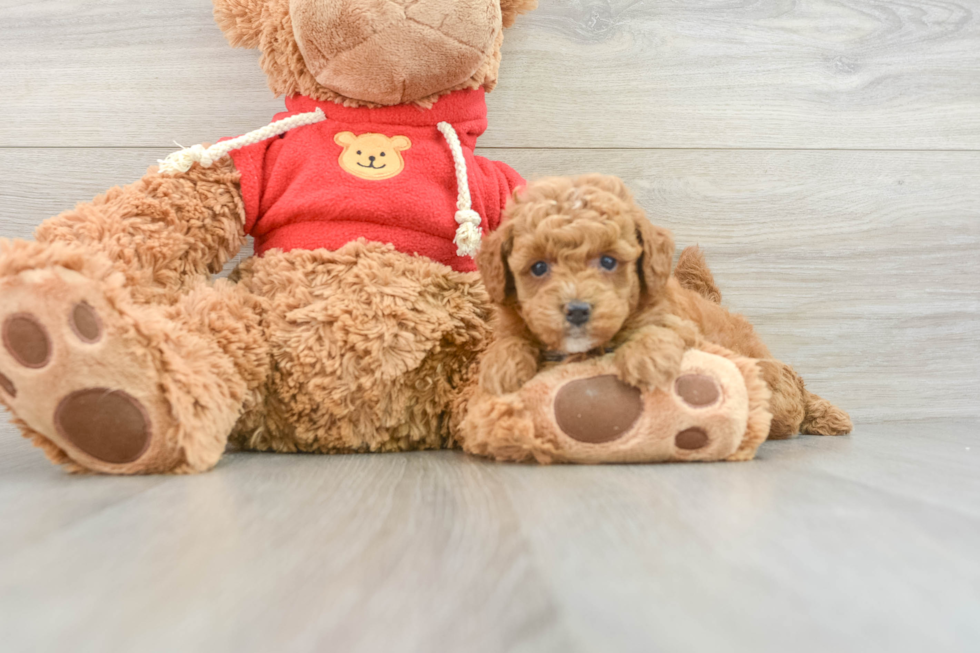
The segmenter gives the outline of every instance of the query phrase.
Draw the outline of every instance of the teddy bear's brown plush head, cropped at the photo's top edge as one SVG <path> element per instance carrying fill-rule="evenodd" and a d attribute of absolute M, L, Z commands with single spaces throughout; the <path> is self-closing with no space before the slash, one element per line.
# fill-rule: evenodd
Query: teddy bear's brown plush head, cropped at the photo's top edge
<path fill-rule="evenodd" d="M 503 28 L 537 0 L 213 0 L 232 45 L 258 48 L 273 91 L 348 106 L 492 89 Z"/>

